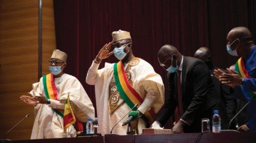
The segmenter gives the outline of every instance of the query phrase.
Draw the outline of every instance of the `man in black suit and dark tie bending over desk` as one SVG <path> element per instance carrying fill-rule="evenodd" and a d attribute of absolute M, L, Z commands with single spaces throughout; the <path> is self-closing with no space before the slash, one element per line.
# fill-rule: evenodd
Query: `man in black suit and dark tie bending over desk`
<path fill-rule="evenodd" d="M 208 67 L 199 59 L 183 56 L 172 45 L 160 48 L 158 61 L 168 71 L 169 91 L 163 110 L 153 125 L 162 127 L 177 107 L 181 118 L 172 128 L 173 133 L 201 132 L 201 119 L 211 119 L 216 104 L 212 98 L 214 84 Z"/>

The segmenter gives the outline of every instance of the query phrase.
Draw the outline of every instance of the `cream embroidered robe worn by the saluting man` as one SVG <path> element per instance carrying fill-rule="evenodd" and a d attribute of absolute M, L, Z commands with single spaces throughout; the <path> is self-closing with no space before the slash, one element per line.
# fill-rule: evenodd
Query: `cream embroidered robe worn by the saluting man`
<path fill-rule="evenodd" d="M 99 124 L 99 133 L 102 135 L 110 133 L 113 126 L 125 116 L 131 108 L 124 103 L 117 108 L 111 115 L 109 108 L 109 85 L 113 77 L 114 64 L 105 63 L 105 67 L 98 70 L 99 64 L 92 63 L 86 77 L 86 82 L 90 85 L 95 85 L 96 107 Z M 127 65 L 124 65 L 126 68 Z M 133 88 L 144 99 L 138 110 L 142 113 L 149 109 L 153 109 L 156 113 L 160 110 L 164 103 L 164 85 L 162 78 L 157 74 L 153 67 L 146 61 L 140 59 L 136 66 L 131 66 L 131 78 Z M 125 135 L 127 125 L 122 126 L 122 123 L 128 118 L 125 117 L 116 125 L 113 133 Z M 145 128 L 145 123 L 139 118 L 138 131 L 142 133 Z"/>

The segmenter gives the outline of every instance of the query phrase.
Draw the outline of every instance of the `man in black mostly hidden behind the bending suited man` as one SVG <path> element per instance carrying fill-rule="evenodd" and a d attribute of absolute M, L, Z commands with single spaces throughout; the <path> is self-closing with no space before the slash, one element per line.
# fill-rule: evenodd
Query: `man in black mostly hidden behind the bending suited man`
<path fill-rule="evenodd" d="M 214 82 L 215 90 L 217 92 L 215 94 L 216 104 L 220 107 L 219 114 L 221 117 L 221 129 L 227 129 L 230 120 L 236 115 L 237 100 L 230 95 L 230 87 L 222 84 L 214 76 L 214 70 L 217 69 L 217 67 L 212 63 L 210 50 L 206 47 L 201 47 L 195 52 L 194 57 L 202 60 L 210 70 L 212 81 Z M 236 125 L 231 124 L 230 129 L 236 129 Z"/>

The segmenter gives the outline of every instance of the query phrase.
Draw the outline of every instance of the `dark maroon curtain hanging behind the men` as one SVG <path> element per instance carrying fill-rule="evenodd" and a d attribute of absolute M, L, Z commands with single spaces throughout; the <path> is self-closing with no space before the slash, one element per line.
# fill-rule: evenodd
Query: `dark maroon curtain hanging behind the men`
<path fill-rule="evenodd" d="M 154 67 L 165 89 L 166 71 L 157 60 L 164 44 L 186 56 L 209 47 L 215 65 L 226 68 L 238 59 L 226 52 L 231 28 L 246 26 L 254 38 L 256 32 L 253 0 L 54 0 L 54 15 L 57 48 L 68 54 L 65 72 L 80 80 L 94 105 L 94 87 L 86 83 L 86 74 L 100 48 L 112 41 L 113 31 L 131 33 L 135 56 Z M 104 62 L 117 59 L 104 60 L 101 67 Z"/>

